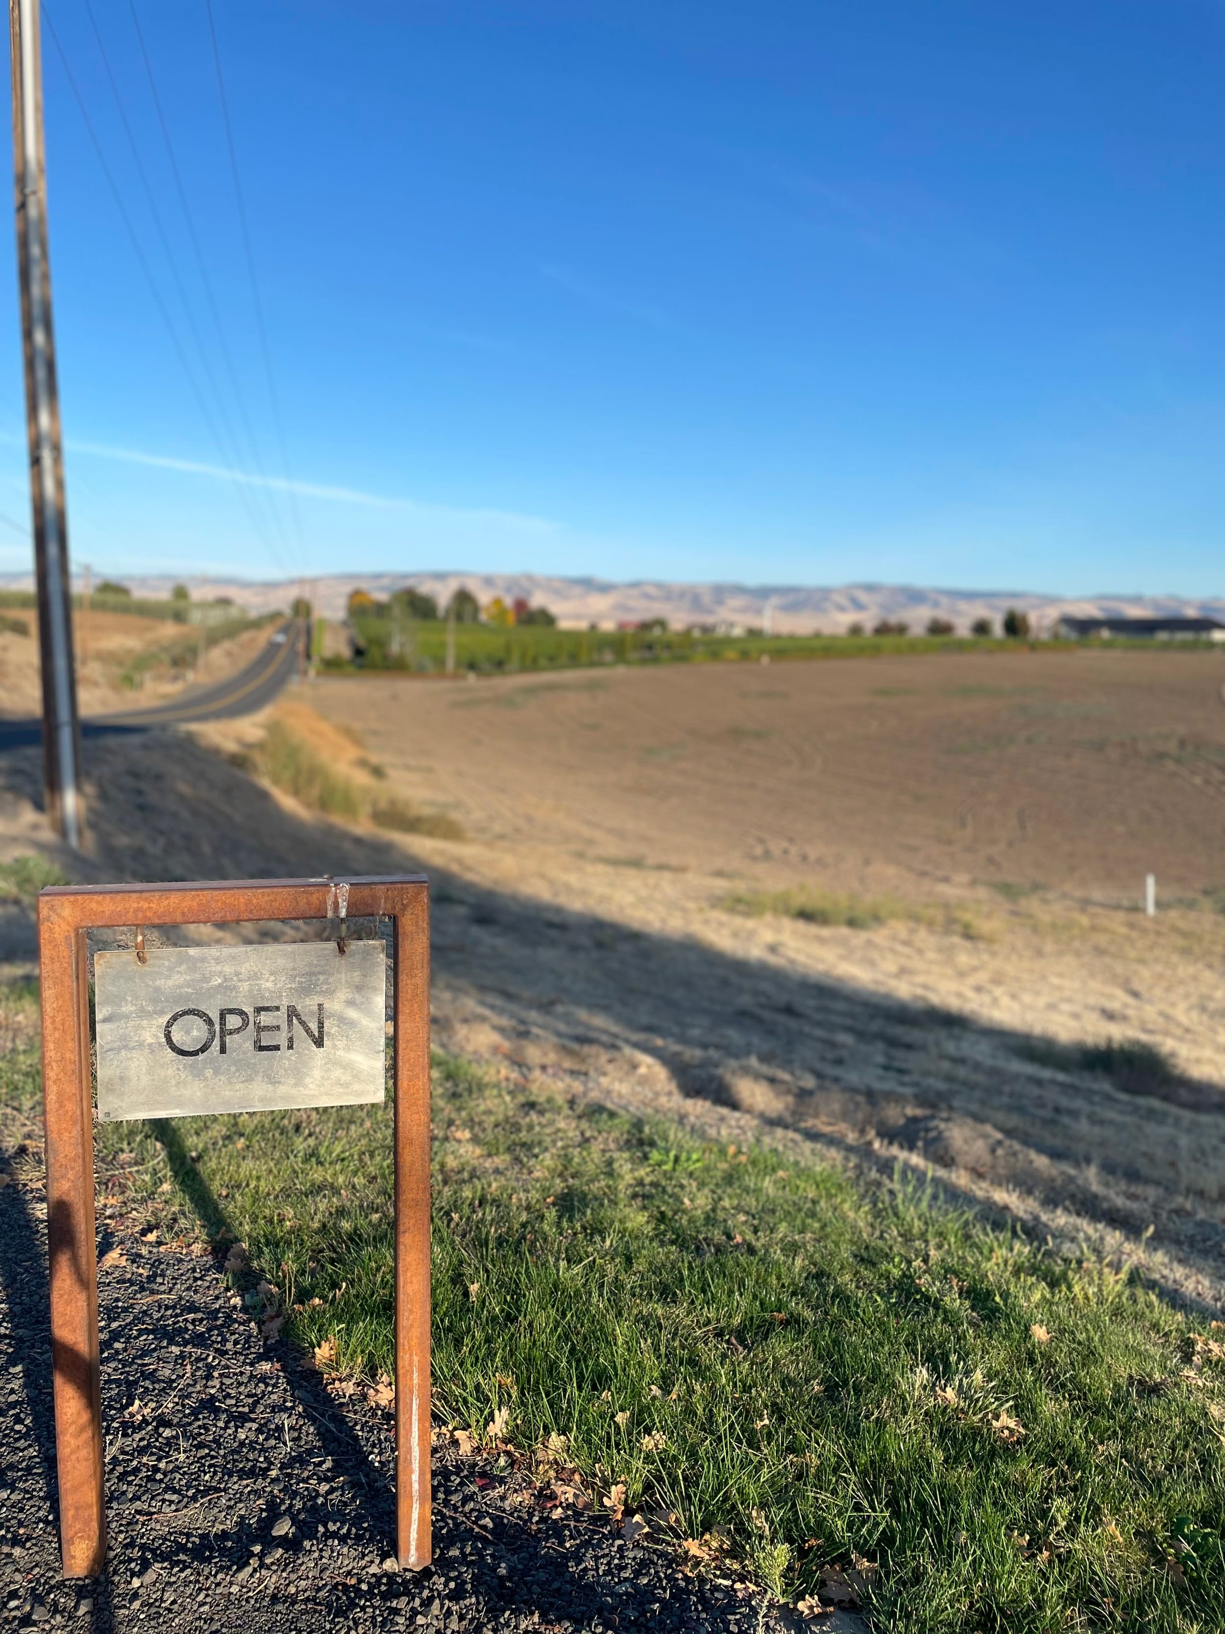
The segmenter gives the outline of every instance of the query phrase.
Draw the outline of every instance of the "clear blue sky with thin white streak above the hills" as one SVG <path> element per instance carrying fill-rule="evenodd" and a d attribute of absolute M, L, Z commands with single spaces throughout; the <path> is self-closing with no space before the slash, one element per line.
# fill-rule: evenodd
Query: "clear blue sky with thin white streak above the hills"
<path fill-rule="evenodd" d="M 207 289 L 132 5 L 47 0 L 77 562 L 1225 590 L 1218 3 L 212 8 L 281 431 L 204 0 L 136 16 Z"/>

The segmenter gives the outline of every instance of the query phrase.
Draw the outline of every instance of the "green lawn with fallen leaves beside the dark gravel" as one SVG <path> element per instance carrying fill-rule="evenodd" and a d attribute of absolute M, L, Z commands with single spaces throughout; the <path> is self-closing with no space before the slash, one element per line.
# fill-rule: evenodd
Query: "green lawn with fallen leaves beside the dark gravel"
<path fill-rule="evenodd" d="M 0 1062 L 10 1101 L 31 1060 Z M 441 1420 L 480 1443 L 505 1413 L 528 1456 L 564 1436 L 591 1487 L 624 1482 L 678 1539 L 722 1534 L 786 1593 L 872 1560 L 877 1631 L 1220 1629 L 1207 1319 L 913 1180 L 784 1167 L 452 1059 L 434 1126 Z M 389 1368 L 387 1109 L 98 1145 L 103 1219 L 232 1232 L 294 1338 Z"/>

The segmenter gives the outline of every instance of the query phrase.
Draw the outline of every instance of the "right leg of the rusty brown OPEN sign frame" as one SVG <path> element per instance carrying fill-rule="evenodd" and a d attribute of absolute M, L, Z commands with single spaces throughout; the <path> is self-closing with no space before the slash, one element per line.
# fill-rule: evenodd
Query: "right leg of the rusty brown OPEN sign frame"
<path fill-rule="evenodd" d="M 430 1502 L 430 897 L 395 915 L 395 1531 L 433 1559 Z"/>

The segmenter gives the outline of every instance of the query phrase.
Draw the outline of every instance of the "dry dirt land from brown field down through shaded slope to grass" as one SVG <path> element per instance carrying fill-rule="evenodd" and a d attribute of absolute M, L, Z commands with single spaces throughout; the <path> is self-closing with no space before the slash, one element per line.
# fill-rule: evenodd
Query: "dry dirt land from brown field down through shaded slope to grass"
<path fill-rule="evenodd" d="M 91 743 L 88 868 L 416 863 L 443 1046 L 728 1139 L 934 1165 L 1217 1310 L 1223 678 L 1215 654 L 1018 652 L 318 681 L 296 706 L 356 732 L 389 794 L 467 842 L 328 824 L 263 789 L 222 755 L 256 721 Z M 13 855 L 39 840 L 36 758 L 3 775 Z M 856 930 L 728 904 L 789 886 L 898 909 Z M 18 909 L 5 938 L 29 958 Z M 1132 1041 L 1171 1069 L 1117 1051 Z"/>

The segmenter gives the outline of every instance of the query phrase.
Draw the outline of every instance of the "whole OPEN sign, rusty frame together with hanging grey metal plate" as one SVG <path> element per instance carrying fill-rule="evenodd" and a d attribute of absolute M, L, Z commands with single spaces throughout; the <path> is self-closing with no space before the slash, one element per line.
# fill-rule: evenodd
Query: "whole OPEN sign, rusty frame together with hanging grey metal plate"
<path fill-rule="evenodd" d="M 372 953 L 372 946 L 346 944 L 350 917 L 389 918 L 394 926 L 397 1557 L 412 1569 L 430 1564 L 430 887 L 425 876 L 56 886 L 39 894 L 38 922 L 51 1350 L 65 1577 L 96 1577 L 106 1556 L 88 931 L 136 926 L 137 951 L 106 958 L 132 964 L 139 959 L 147 966 L 152 995 L 142 1011 L 131 975 L 116 982 L 114 966 L 108 967 L 106 982 L 98 975 L 101 1116 L 175 1116 L 382 1098 L 382 1010 L 376 1033 L 369 979 L 363 989 L 363 966 L 369 977 L 372 959 L 358 954 L 358 949 Z M 140 933 L 147 926 L 252 920 L 338 920 L 333 958 L 341 956 L 338 966 L 345 969 L 330 972 L 320 964 L 320 943 L 144 953 Z M 271 954 L 263 972 L 258 958 L 252 958 L 260 953 Z M 358 954 L 351 966 L 346 953 Z M 198 961 L 198 985 L 199 980 L 204 985 L 162 1015 L 165 1003 L 160 1008 L 158 1003 L 183 979 L 185 959 Z M 281 987 L 266 985 L 273 975 Z M 238 979 L 247 984 L 243 993 L 234 989 Z M 252 992 L 255 1000 L 273 1000 L 278 992 L 283 997 L 258 1003 L 252 1002 Z M 284 1002 L 287 992 L 292 1002 Z M 201 993 L 204 998 L 193 1003 Z M 317 993 L 325 997 L 312 1002 Z M 116 1052 L 108 1038 L 126 1041 L 127 1047 Z"/>

